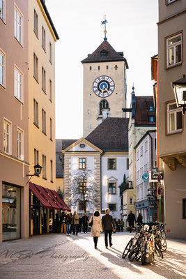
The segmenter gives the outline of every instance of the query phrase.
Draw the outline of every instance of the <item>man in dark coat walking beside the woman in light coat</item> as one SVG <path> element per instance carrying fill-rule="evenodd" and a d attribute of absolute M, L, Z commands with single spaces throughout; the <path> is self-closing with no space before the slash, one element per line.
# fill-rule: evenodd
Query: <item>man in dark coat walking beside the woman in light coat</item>
<path fill-rule="evenodd" d="M 114 220 L 111 215 L 109 215 L 110 211 L 109 209 L 105 209 L 105 215 L 102 216 L 102 227 L 104 230 L 104 243 L 105 247 L 108 248 L 108 235 L 109 235 L 109 246 L 112 246 L 111 243 L 111 234 L 112 230 L 116 232 Z"/>

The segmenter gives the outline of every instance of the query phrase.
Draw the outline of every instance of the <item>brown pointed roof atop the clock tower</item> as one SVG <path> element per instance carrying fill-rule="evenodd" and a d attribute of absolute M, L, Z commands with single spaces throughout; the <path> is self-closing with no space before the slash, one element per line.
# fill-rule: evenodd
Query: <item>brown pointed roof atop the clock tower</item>
<path fill-rule="evenodd" d="M 107 57 L 101 56 L 101 53 L 107 53 Z M 128 68 L 127 59 L 123 57 L 123 52 L 116 52 L 114 48 L 104 40 L 101 45 L 93 52 L 88 54 L 86 59 L 82 60 L 82 63 L 94 63 L 94 62 L 106 62 L 106 61 L 125 61 L 126 67 Z"/>

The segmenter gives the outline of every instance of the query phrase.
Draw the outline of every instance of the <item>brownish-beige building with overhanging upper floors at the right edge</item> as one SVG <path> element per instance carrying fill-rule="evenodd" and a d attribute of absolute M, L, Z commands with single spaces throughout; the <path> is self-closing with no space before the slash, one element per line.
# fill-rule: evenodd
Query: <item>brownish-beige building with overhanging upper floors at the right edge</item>
<path fill-rule="evenodd" d="M 157 155 L 164 162 L 164 213 L 169 237 L 185 238 L 186 121 L 176 105 L 172 82 L 186 73 L 186 2 L 159 0 Z"/>

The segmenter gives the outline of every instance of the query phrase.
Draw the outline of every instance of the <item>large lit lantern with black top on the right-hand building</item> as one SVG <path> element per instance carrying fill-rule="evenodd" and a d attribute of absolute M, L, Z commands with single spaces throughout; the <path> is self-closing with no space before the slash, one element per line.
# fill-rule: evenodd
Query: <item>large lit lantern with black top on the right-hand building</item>
<path fill-rule="evenodd" d="M 185 114 L 186 110 L 186 77 L 182 76 L 180 80 L 172 83 L 173 91 L 176 98 L 177 107 L 182 107 L 182 112 Z"/>

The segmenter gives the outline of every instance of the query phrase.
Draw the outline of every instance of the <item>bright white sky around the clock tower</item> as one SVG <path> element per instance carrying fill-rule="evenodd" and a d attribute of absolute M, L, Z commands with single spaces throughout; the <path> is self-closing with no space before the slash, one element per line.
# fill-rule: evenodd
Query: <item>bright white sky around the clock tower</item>
<path fill-rule="evenodd" d="M 107 39 L 124 52 L 127 101 L 134 82 L 136 96 L 152 96 L 150 57 L 157 54 L 158 0 L 45 0 L 59 40 L 56 43 L 56 138 L 83 134 L 83 65 L 102 43 L 104 15 Z"/>

